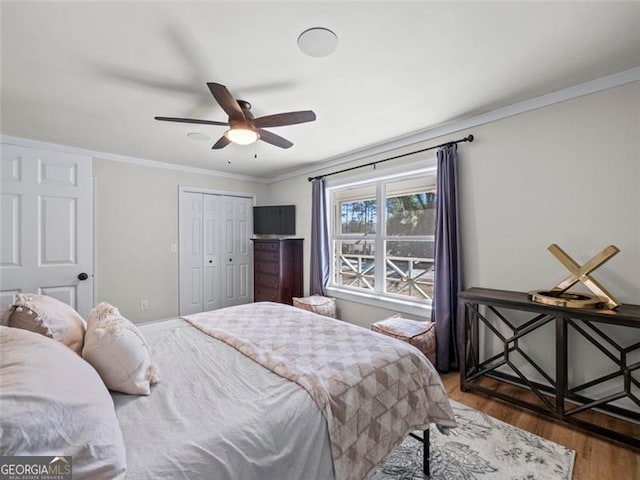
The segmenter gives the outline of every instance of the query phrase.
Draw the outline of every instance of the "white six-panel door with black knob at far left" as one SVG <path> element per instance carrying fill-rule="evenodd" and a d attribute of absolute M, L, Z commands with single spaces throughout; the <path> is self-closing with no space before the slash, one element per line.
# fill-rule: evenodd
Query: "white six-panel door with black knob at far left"
<path fill-rule="evenodd" d="M 93 305 L 91 157 L 1 145 L 0 302 L 40 293 Z"/>

